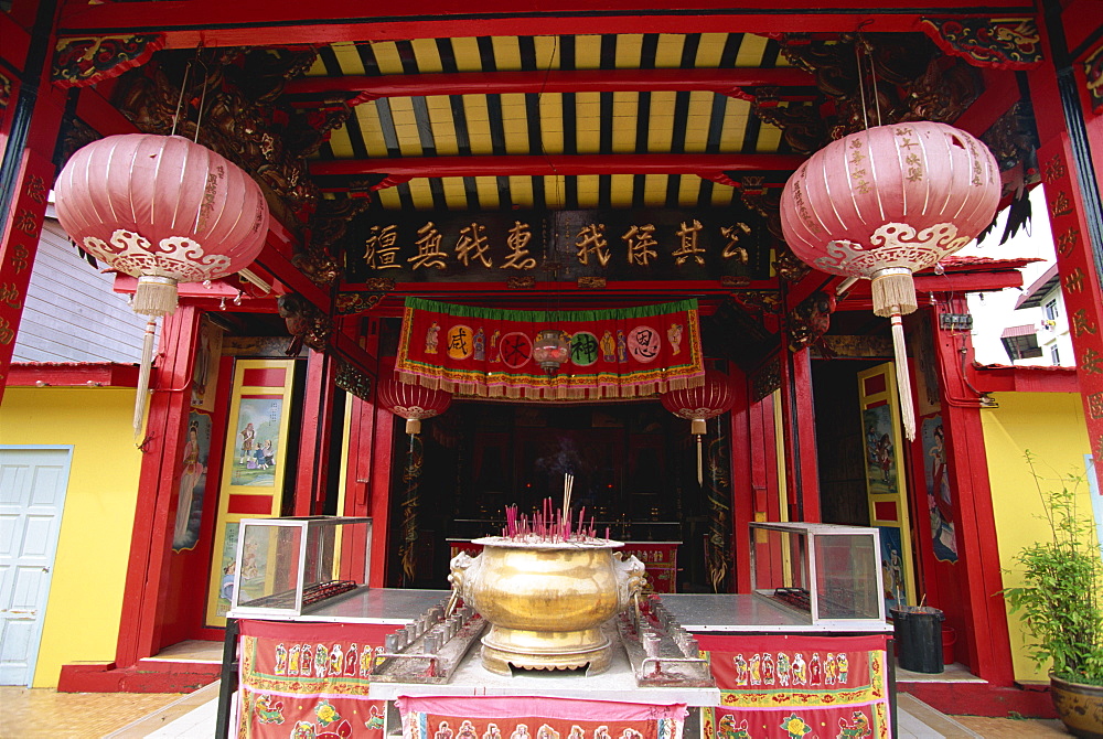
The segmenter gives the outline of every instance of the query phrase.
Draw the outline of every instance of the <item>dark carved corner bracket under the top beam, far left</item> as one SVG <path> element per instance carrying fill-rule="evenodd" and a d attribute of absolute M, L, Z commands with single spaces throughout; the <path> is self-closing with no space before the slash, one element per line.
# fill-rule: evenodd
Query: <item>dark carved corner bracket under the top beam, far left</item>
<path fill-rule="evenodd" d="M 63 39 L 54 51 L 50 77 L 60 87 L 86 87 L 118 77 L 148 62 L 164 46 L 164 39 L 163 33 Z"/>

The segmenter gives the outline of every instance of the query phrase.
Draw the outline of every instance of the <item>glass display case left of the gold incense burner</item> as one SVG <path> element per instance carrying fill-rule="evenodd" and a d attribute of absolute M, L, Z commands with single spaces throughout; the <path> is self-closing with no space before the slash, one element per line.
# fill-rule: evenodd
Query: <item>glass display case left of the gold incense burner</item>
<path fill-rule="evenodd" d="M 229 615 L 298 617 L 361 588 L 371 570 L 371 518 L 243 518 Z"/>

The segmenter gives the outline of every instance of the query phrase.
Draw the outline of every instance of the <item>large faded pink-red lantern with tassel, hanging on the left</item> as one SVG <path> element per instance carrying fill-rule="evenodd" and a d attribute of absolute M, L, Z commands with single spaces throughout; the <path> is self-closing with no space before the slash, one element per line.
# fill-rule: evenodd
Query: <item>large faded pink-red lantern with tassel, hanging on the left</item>
<path fill-rule="evenodd" d="M 54 185 L 57 219 L 81 248 L 138 278 L 149 315 L 135 432 L 144 415 L 153 329 L 176 309 L 176 283 L 247 267 L 268 233 L 259 185 L 229 160 L 179 136 L 109 136 L 78 150 Z"/>

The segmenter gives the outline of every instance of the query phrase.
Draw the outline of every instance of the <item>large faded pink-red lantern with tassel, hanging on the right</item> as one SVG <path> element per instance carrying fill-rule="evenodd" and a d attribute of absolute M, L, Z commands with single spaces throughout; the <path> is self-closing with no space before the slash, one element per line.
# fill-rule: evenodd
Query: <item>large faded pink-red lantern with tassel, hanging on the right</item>
<path fill-rule="evenodd" d="M 912 274 L 976 238 L 999 203 L 999 168 L 965 131 L 927 121 L 877 126 L 833 141 L 789 179 L 781 225 L 815 269 L 872 281 L 874 312 L 892 322 L 897 387 L 915 438 L 901 315 L 915 310 Z"/>

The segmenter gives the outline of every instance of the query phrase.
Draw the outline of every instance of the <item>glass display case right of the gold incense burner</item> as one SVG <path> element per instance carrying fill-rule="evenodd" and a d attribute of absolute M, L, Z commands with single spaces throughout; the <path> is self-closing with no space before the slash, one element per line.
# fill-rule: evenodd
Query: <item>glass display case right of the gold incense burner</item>
<path fill-rule="evenodd" d="M 853 629 L 885 621 L 876 528 L 752 523 L 751 588 L 812 624 Z"/>

